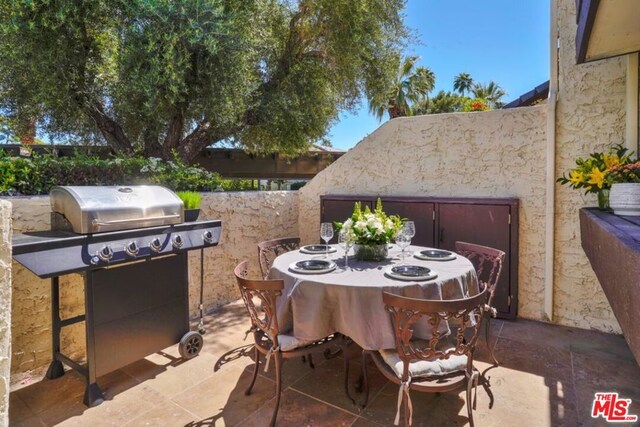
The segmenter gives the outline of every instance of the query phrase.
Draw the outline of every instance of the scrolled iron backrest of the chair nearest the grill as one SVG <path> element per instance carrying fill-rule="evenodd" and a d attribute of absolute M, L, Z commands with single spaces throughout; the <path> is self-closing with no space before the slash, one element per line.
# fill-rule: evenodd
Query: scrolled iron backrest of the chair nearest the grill
<path fill-rule="evenodd" d="M 242 261 L 234 270 L 240 294 L 251 317 L 251 325 L 261 329 L 278 346 L 278 319 L 276 316 L 276 300 L 282 295 L 282 280 L 247 279 L 248 261 Z M 260 301 L 256 304 L 256 299 Z"/>

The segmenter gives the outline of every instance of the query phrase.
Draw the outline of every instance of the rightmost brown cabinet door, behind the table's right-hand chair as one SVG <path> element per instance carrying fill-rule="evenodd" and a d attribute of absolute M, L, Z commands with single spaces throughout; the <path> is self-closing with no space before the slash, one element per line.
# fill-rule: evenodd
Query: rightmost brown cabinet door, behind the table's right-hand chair
<path fill-rule="evenodd" d="M 438 247 L 455 251 L 455 242 L 463 241 L 506 253 L 493 303 L 502 316 L 510 315 L 510 211 L 504 205 L 441 203 L 437 216 Z"/>

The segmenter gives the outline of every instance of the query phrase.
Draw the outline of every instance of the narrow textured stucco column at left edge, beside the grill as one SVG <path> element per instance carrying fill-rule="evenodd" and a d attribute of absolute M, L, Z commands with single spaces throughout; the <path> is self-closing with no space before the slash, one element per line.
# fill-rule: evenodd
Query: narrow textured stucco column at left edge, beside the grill
<path fill-rule="evenodd" d="M 11 203 L 0 200 L 0 426 L 9 425 L 11 370 Z"/>

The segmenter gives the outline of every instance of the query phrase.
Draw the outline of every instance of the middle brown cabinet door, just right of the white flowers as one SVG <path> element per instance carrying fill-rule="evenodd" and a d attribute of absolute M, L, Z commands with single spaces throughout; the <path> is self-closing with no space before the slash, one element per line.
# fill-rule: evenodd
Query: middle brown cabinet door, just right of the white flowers
<path fill-rule="evenodd" d="M 416 235 L 412 245 L 434 247 L 434 209 L 428 202 L 401 202 L 382 199 L 382 208 L 387 215 L 399 215 L 416 223 Z"/>

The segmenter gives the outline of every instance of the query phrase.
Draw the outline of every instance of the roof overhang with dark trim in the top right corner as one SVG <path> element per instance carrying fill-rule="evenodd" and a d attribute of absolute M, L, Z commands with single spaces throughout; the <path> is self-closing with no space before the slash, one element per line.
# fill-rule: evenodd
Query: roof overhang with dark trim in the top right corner
<path fill-rule="evenodd" d="M 640 51 L 638 0 L 576 0 L 576 62 Z"/>

